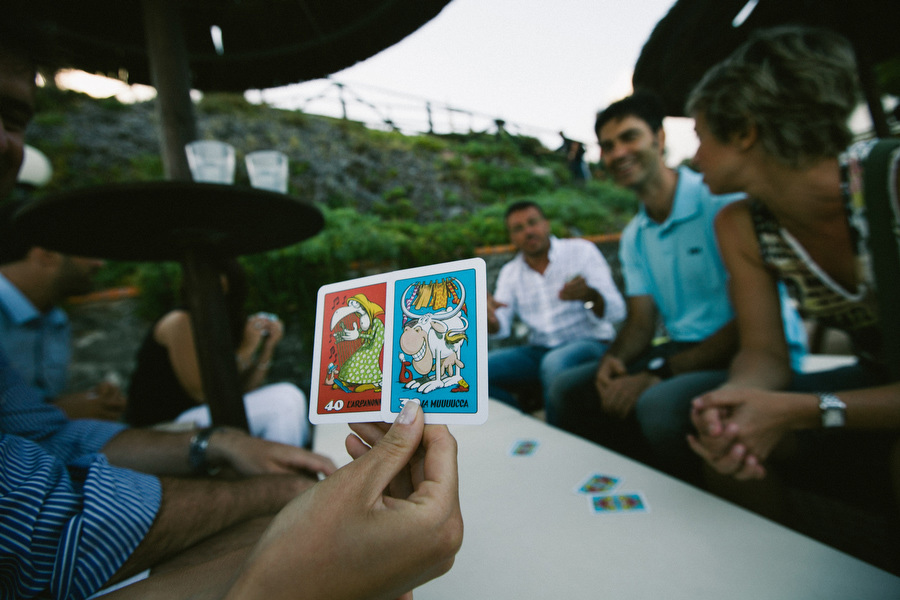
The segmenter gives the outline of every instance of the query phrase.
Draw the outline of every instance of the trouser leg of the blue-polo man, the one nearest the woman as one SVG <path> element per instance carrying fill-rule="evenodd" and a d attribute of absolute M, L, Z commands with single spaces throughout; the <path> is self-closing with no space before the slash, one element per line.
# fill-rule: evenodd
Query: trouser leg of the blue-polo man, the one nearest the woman
<path fill-rule="evenodd" d="M 696 371 L 667 379 L 638 398 L 635 416 L 649 442 L 656 466 L 687 481 L 700 481 L 701 461 L 688 446 L 691 401 L 728 378 L 727 371 Z"/>

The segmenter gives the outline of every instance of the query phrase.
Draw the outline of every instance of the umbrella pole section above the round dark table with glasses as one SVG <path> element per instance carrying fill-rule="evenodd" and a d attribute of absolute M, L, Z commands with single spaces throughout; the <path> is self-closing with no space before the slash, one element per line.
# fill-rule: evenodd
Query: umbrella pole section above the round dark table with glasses
<path fill-rule="evenodd" d="M 191 181 L 184 145 L 197 138 L 197 125 L 181 10 L 177 0 L 143 0 L 142 5 L 166 179 Z"/>

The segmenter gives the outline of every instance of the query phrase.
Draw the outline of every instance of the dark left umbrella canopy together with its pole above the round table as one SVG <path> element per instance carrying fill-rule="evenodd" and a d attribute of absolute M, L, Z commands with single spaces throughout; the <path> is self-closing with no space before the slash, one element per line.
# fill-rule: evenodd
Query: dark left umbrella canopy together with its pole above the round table
<path fill-rule="evenodd" d="M 166 176 L 189 180 L 192 88 L 240 92 L 329 75 L 399 42 L 449 1 L 28 0 L 27 10 L 55 31 L 64 65 L 156 88 Z"/>

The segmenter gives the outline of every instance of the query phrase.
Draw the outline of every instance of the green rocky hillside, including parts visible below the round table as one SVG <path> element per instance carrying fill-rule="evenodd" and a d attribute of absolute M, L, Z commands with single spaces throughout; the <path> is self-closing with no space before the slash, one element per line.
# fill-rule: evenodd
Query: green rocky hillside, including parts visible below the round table
<path fill-rule="evenodd" d="M 278 149 L 290 159 L 290 192 L 326 211 L 326 231 L 313 240 L 318 246 L 312 257 L 288 253 L 277 257 L 283 261 L 277 267 L 267 270 L 262 264 L 269 257 L 253 265 L 258 276 L 256 300 L 285 317 L 289 326 L 272 375 L 301 385 L 308 378 L 309 338 L 303 333 L 309 327 L 291 320 L 291 315 L 310 314 L 309 302 L 314 303 L 318 285 L 353 276 L 354 261 L 389 264 L 396 260 L 398 247 L 406 252 L 407 245 L 416 243 L 415 236 L 425 236 L 429 245 L 446 249 L 454 258 L 471 256 L 477 246 L 506 242 L 504 205 L 522 197 L 541 202 L 551 215 L 555 233 L 563 236 L 618 231 L 634 210 L 633 199 L 603 182 L 571 185 L 561 155 L 535 139 L 505 132 L 404 136 L 250 105 L 235 95 L 208 95 L 196 105 L 196 114 L 200 138 L 219 139 L 235 147 L 237 184 L 248 183 L 244 155 Z M 44 89 L 29 143 L 54 165 L 51 183 L 39 194 L 163 177 L 153 102 L 122 105 Z M 342 212 L 339 219 L 329 220 L 329 211 Z M 348 226 L 350 219 L 360 219 L 359 224 Z M 451 223 L 457 226 L 447 227 Z M 421 229 L 427 224 L 434 228 Z M 353 235 L 360 230 L 366 235 Z M 378 244 L 363 246 L 357 239 L 378 235 L 382 236 Z M 328 246 L 332 243 L 340 248 Z M 389 255 L 376 255 L 381 248 Z M 441 259 L 427 258 L 430 262 Z M 332 264 L 324 264 L 329 261 Z M 113 275 L 103 285 L 117 285 L 117 277 L 127 279 L 117 265 L 110 270 Z M 167 278 L 171 284 L 168 273 L 156 281 Z M 302 290 L 285 287 L 299 279 L 308 282 Z M 142 310 L 142 302 L 146 304 L 153 294 L 145 286 L 137 300 L 70 307 L 76 334 L 73 387 L 84 387 L 110 371 L 127 380 L 134 351 L 149 326 L 147 317 L 169 306 L 157 302 Z"/>

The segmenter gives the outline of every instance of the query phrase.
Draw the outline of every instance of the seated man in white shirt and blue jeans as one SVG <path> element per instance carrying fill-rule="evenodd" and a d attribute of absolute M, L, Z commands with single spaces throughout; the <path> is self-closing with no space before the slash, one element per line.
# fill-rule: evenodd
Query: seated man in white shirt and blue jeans
<path fill-rule="evenodd" d="M 527 345 L 488 355 L 492 398 L 519 406 L 515 394 L 543 390 L 565 369 L 596 362 L 625 317 L 625 301 L 597 247 L 582 239 L 550 235 L 541 207 L 517 202 L 506 211 L 506 227 L 518 254 L 500 270 L 488 296 L 488 331 L 508 337 L 514 316 L 530 330 Z"/>

